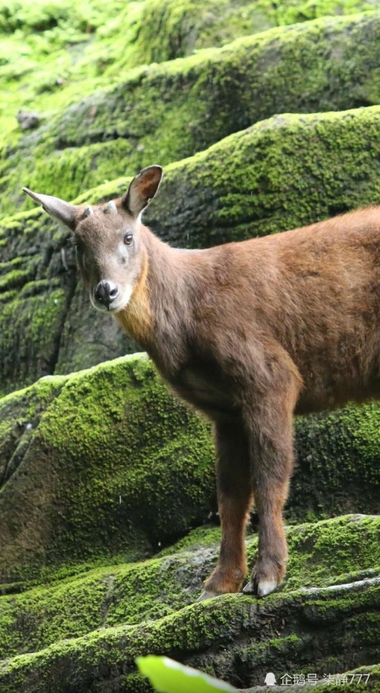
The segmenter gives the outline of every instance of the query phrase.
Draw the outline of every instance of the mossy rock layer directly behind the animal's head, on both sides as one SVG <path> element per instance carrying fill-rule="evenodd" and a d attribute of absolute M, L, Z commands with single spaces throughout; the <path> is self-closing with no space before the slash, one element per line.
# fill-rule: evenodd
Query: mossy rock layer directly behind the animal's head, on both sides
<path fill-rule="evenodd" d="M 207 247 L 372 204 L 380 193 L 379 121 L 380 107 L 370 107 L 257 123 L 168 166 L 146 222 L 171 245 Z M 78 199 L 110 199 L 125 191 L 129 180 L 116 179 Z M 6 305 L 0 315 L 3 392 L 33 382 L 47 367 L 65 373 L 135 350 L 112 318 L 91 310 L 77 283 L 69 234 L 44 212 L 3 220 L 0 245 L 5 283 L 21 258 L 29 272 L 25 279 L 18 275 L 18 288 L 0 292 Z M 40 296 L 21 301 L 33 288 Z M 58 290 L 55 304 L 50 296 Z M 49 313 L 45 318 L 43 310 Z M 20 353 L 27 357 L 21 360 Z"/>

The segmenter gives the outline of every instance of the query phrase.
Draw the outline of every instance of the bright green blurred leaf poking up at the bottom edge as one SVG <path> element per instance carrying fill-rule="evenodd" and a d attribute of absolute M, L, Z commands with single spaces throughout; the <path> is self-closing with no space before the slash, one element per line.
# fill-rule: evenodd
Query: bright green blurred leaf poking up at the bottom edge
<path fill-rule="evenodd" d="M 192 667 L 175 662 L 169 657 L 137 657 L 141 674 L 147 676 L 159 693 L 212 693 L 213 691 L 236 692 L 225 681 L 198 672 Z"/>

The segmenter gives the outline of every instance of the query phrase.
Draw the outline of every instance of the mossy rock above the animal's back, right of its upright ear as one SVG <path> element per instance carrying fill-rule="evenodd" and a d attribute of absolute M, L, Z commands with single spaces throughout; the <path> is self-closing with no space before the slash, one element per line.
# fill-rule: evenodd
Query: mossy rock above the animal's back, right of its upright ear
<path fill-rule="evenodd" d="M 378 107 L 257 123 L 172 164 L 148 222 L 173 245 L 205 247 L 371 204 L 379 194 L 378 123 Z"/>

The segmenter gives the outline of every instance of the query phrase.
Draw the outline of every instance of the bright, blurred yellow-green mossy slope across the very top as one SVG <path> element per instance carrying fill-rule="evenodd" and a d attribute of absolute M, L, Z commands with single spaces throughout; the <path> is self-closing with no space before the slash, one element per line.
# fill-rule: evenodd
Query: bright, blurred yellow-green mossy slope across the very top
<path fill-rule="evenodd" d="M 0 1 L 0 128 L 17 145 L 19 109 L 53 114 L 132 67 L 180 58 L 273 26 L 379 8 L 379 0 Z M 20 88 L 22 86 L 22 88 Z M 33 134 L 33 133 L 32 133 Z M 0 165 L 1 170 L 1 165 Z"/>

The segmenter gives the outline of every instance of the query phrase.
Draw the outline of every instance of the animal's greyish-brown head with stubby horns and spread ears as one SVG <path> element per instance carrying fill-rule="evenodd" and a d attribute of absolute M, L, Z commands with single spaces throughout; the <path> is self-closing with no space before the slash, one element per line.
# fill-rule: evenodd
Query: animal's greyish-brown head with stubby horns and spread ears
<path fill-rule="evenodd" d="M 118 200 L 80 207 L 51 195 L 24 192 L 74 232 L 76 256 L 92 305 L 117 312 L 128 304 L 141 274 L 141 213 L 154 198 L 161 166 L 148 166 Z"/>

